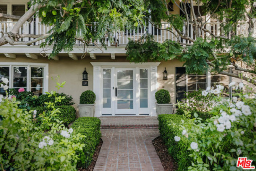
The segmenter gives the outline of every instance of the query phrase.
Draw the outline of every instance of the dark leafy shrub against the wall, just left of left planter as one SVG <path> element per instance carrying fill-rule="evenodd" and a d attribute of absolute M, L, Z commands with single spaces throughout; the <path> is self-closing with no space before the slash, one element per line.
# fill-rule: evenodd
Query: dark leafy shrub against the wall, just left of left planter
<path fill-rule="evenodd" d="M 73 100 L 72 96 L 69 96 L 69 95 L 67 95 L 65 93 L 57 93 L 57 97 L 59 97 L 59 96 L 65 97 L 65 99 L 62 99 L 61 102 L 57 101 L 56 104 L 55 104 L 56 106 L 73 105 L 73 104 L 75 104 L 72 101 Z M 48 94 L 42 94 L 38 98 L 38 105 L 39 106 L 45 106 L 44 102 L 54 102 L 55 101 L 54 98 L 55 97 L 53 97 L 53 96 L 48 97 Z"/>

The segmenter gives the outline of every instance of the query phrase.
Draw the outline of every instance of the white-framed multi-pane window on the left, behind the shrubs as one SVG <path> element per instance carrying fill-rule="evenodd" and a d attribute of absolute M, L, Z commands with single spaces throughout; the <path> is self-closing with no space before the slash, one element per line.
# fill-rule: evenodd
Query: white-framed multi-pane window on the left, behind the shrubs
<path fill-rule="evenodd" d="M 48 64 L 46 63 L 2 62 L 0 79 L 2 77 L 9 79 L 9 88 L 16 90 L 24 88 L 25 91 L 31 91 L 37 96 L 48 91 Z M 3 88 L 0 89 L 0 94 L 5 94 Z"/>

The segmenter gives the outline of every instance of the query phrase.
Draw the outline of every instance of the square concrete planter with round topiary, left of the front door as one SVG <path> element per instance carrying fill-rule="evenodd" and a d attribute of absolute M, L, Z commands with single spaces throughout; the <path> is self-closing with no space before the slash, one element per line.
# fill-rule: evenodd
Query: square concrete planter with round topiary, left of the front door
<path fill-rule="evenodd" d="M 87 90 L 80 96 L 80 104 L 78 104 L 79 117 L 94 117 L 94 102 L 96 95 L 93 91 Z"/>

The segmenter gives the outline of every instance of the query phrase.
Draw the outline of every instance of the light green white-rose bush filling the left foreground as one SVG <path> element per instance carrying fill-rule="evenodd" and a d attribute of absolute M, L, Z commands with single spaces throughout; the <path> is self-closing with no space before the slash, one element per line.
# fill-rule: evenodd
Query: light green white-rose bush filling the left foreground
<path fill-rule="evenodd" d="M 49 95 L 56 97 L 56 92 L 51 91 Z M 2 170 L 76 170 L 76 151 L 85 146 L 81 143 L 85 136 L 72 134 L 72 130 L 65 128 L 61 120 L 51 119 L 60 112 L 55 103 L 49 103 L 48 108 L 52 110 L 48 116 L 45 112 L 38 116 L 42 124 L 37 125 L 36 111 L 18 109 L 21 102 L 15 97 L 7 97 L 0 97 Z"/>

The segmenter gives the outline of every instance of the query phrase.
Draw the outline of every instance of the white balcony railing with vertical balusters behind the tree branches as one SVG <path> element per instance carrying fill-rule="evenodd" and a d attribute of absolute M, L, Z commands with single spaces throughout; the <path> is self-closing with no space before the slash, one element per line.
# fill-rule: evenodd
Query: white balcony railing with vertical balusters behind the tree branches
<path fill-rule="evenodd" d="M 1 22 L 0 30 L 3 33 L 9 32 L 9 31 L 11 31 L 11 28 L 15 25 L 15 23 L 16 22 Z M 32 22 L 30 24 L 28 22 L 26 22 L 19 29 L 19 34 L 47 34 L 52 27 L 53 26 L 43 25 L 37 21 Z M 138 40 L 140 37 L 142 37 L 145 34 L 152 34 L 154 36 L 154 40 L 157 42 L 160 42 L 160 43 L 164 42 L 165 40 L 168 40 L 168 39 L 173 40 L 173 41 L 179 41 L 182 43 L 191 43 L 189 41 L 181 39 L 180 37 L 177 37 L 176 35 L 178 35 L 178 34 L 174 29 L 172 30 L 172 32 L 174 34 L 165 30 L 166 28 L 169 28 L 169 27 L 170 27 L 169 23 L 163 22 L 161 24 L 162 29 L 155 28 L 151 24 L 148 24 L 148 26 L 142 26 L 142 27 L 138 26 L 135 29 L 125 29 L 125 31 L 120 31 L 120 32 L 116 32 L 116 33 L 112 34 L 111 37 L 105 37 L 105 44 L 107 46 L 116 46 L 116 45 L 126 46 L 126 44 L 129 42 L 129 40 Z M 185 27 L 186 26 L 184 26 L 184 30 L 185 30 Z M 195 28 L 193 28 L 193 27 L 194 26 L 192 24 L 189 25 L 188 35 L 194 39 L 195 35 L 193 32 L 193 29 L 195 29 Z M 207 23 L 204 26 L 204 28 L 210 30 L 211 33 L 215 33 L 216 35 L 220 35 L 222 33 L 220 23 Z M 236 25 L 236 27 L 233 28 L 232 30 L 233 30 L 232 33 L 231 32 L 227 33 L 225 36 L 230 37 L 232 34 L 248 36 L 248 23 L 238 23 Z M 203 30 L 200 31 L 200 29 L 199 29 L 199 32 L 200 32 L 200 36 L 203 38 L 205 36 L 210 35 L 210 33 L 206 33 Z M 184 33 L 184 34 L 186 34 L 186 33 Z M 253 35 L 256 36 L 256 22 L 255 22 L 254 29 L 253 29 Z M 2 35 L 0 34 L 0 37 L 1 36 Z M 26 38 L 19 39 L 19 41 L 29 41 L 32 39 L 33 38 L 26 37 Z M 110 41 L 110 40 L 113 40 L 113 41 Z M 43 41 L 44 40 L 36 42 L 36 43 L 34 43 L 34 45 L 39 45 Z M 78 40 L 76 41 L 76 44 L 84 45 L 82 42 L 80 42 Z M 92 46 L 95 44 L 100 45 L 101 43 L 99 40 L 97 40 L 96 42 L 89 43 L 89 45 L 92 45 Z M 7 45 L 9 45 L 9 44 L 7 44 Z"/>

